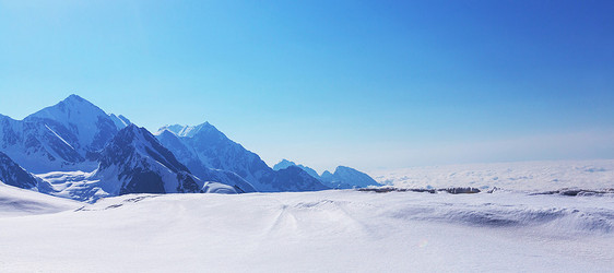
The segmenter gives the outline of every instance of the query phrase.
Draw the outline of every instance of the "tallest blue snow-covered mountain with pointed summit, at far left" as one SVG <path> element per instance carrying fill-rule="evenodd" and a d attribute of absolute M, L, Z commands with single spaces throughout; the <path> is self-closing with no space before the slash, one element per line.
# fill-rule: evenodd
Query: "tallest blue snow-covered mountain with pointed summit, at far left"
<path fill-rule="evenodd" d="M 121 128 L 97 106 L 70 95 L 23 120 L 0 116 L 0 151 L 36 174 L 90 171 L 98 152 Z"/>

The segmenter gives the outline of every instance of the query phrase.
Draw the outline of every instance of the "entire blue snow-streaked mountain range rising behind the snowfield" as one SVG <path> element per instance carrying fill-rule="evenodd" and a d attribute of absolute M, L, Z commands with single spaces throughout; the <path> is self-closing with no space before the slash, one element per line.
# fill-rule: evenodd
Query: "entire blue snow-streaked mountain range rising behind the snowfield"
<path fill-rule="evenodd" d="M 346 167 L 324 175 L 295 164 L 271 168 L 209 122 L 165 126 L 152 134 L 78 95 L 23 120 L 0 115 L 0 181 L 81 201 L 128 193 L 315 191 L 373 180 Z"/>

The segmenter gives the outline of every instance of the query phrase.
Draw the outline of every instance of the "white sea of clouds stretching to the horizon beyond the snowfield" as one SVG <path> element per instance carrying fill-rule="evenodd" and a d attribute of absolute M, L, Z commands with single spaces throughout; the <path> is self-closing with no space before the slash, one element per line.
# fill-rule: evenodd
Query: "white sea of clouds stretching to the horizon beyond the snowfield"
<path fill-rule="evenodd" d="M 414 167 L 371 171 L 381 183 L 401 188 L 474 187 L 546 191 L 614 188 L 614 159 L 518 162 Z"/>

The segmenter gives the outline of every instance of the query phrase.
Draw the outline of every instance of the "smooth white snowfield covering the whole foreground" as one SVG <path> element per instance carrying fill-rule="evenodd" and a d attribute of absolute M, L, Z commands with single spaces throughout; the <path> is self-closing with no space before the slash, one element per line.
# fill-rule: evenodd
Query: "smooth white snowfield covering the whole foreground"
<path fill-rule="evenodd" d="M 2 272 L 612 272 L 614 197 L 130 194 L 0 185 Z"/>

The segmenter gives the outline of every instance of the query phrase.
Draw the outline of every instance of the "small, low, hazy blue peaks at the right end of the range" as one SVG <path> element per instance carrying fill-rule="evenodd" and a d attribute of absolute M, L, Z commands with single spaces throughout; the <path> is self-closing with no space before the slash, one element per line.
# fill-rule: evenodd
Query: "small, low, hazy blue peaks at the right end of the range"
<path fill-rule="evenodd" d="M 324 173 L 322 173 L 322 175 L 319 176 L 318 173 L 312 168 L 309 168 L 300 164 L 297 165 L 296 163 L 287 159 L 282 159 L 280 163 L 275 164 L 273 169 L 281 170 L 288 167 L 298 167 L 305 170 L 310 176 L 319 179 L 323 185 L 333 189 L 352 189 L 352 188 L 366 188 L 369 186 L 381 186 L 369 175 L 345 166 L 336 167 L 334 174 L 324 170 Z"/>

